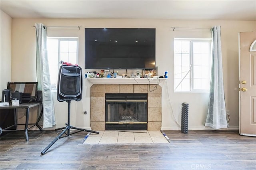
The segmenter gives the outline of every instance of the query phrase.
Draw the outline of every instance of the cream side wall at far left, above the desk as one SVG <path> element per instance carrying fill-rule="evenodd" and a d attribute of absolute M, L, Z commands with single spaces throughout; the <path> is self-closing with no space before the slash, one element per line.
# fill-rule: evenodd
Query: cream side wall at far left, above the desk
<path fill-rule="evenodd" d="M 6 89 L 7 82 L 11 81 L 12 18 L 2 10 L 0 18 L 0 98 L 2 98 L 2 90 Z"/>

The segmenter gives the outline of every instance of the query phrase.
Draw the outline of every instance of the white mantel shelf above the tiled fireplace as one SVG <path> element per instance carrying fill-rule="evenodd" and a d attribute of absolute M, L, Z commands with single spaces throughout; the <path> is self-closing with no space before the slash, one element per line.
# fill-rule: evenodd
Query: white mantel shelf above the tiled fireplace
<path fill-rule="evenodd" d="M 87 78 L 92 84 L 159 84 L 164 82 L 165 78 Z"/>

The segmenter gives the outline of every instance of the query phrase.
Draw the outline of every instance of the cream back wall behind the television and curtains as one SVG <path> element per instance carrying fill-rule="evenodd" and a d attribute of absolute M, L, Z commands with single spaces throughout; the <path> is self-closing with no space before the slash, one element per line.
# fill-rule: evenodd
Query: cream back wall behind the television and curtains
<path fill-rule="evenodd" d="M 163 87 L 162 129 L 179 129 L 181 103 L 189 103 L 189 129 L 204 129 L 208 107 L 208 93 L 174 93 L 173 40 L 180 37 L 210 36 L 205 30 L 172 31 L 171 27 L 212 28 L 221 26 L 222 57 L 226 109 L 230 110 L 230 127 L 238 128 L 238 33 L 256 30 L 253 21 L 218 20 L 136 20 L 136 19 L 12 19 L 12 81 L 36 81 L 35 23 L 46 26 L 82 26 L 78 29 L 48 28 L 48 36 L 72 36 L 79 38 L 79 65 L 84 68 L 84 28 L 156 28 L 156 66 L 158 74 L 169 71 L 169 79 Z M 20 69 L 22 67 L 22 69 Z M 86 73 L 87 70 L 83 70 Z M 90 128 L 90 85 L 84 80 L 82 101 L 71 102 L 71 124 Z M 168 88 L 167 88 L 168 87 Z M 168 91 L 168 92 L 167 92 Z M 170 97 L 169 105 L 168 97 Z M 54 94 L 56 127 L 67 121 L 67 103 L 58 102 Z M 172 109 L 171 109 L 172 107 Z M 87 115 L 83 111 L 88 111 Z M 173 114 L 172 114 L 173 110 Z M 174 117 L 173 117 L 174 116 Z"/>

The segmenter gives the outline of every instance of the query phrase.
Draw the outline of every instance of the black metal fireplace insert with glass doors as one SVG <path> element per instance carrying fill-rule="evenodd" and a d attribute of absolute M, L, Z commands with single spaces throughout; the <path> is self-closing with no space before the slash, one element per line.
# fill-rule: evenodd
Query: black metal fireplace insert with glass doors
<path fill-rule="evenodd" d="M 147 93 L 106 93 L 106 130 L 147 130 Z"/>

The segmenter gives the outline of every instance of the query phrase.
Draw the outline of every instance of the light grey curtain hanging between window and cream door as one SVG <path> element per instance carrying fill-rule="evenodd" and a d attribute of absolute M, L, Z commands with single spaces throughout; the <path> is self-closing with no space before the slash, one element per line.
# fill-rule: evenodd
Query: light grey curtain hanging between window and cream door
<path fill-rule="evenodd" d="M 212 75 L 205 125 L 214 129 L 227 128 L 228 123 L 224 96 L 220 26 L 214 26 L 212 28 L 212 44 Z"/>

